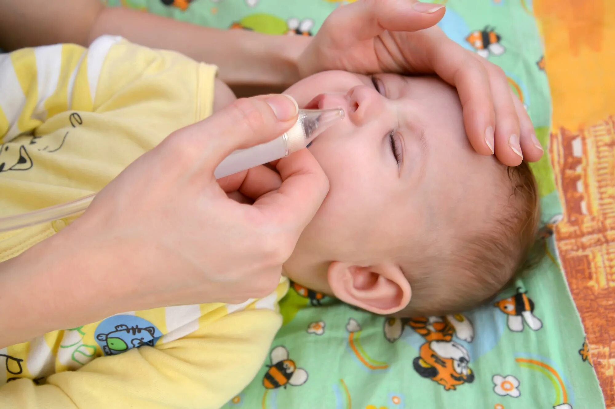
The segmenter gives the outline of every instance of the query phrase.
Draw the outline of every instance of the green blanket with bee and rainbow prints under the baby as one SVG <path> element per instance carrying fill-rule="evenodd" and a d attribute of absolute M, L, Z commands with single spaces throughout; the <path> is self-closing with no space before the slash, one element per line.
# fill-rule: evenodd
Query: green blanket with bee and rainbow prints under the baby
<path fill-rule="evenodd" d="M 313 35 L 346 2 L 109 3 L 217 28 Z M 549 85 L 531 0 L 448 0 L 446 8 L 442 29 L 504 69 L 547 146 Z M 281 303 L 284 326 L 270 360 L 226 407 L 605 407 L 552 238 L 561 209 L 549 163 L 546 155 L 532 166 L 544 225 L 536 252 L 544 257 L 499 302 L 455 316 L 386 319 L 295 286 Z"/>

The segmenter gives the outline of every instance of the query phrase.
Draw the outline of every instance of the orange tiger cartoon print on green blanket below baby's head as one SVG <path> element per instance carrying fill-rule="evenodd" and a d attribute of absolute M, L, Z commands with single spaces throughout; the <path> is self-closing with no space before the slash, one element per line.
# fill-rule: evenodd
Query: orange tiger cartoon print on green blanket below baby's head
<path fill-rule="evenodd" d="M 472 322 L 461 314 L 447 316 L 389 318 L 384 322 L 384 337 L 397 341 L 408 325 L 425 338 L 419 356 L 413 360 L 415 371 L 442 385 L 445 391 L 474 382 L 474 372 L 469 367 L 470 354 L 453 336 L 466 342 L 474 339 Z"/>

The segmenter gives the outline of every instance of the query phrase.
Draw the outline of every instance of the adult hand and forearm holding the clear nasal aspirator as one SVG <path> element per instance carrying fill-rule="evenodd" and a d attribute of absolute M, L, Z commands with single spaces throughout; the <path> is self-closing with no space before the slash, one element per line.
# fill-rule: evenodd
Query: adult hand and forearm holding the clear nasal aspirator
<path fill-rule="evenodd" d="M 287 131 L 297 112 L 284 95 L 238 99 L 138 158 L 73 224 L 0 263 L 0 348 L 122 311 L 270 294 L 328 179 L 303 149 L 277 173 L 261 168 L 282 183 L 248 205 L 228 198 L 213 171 L 233 150 Z"/>

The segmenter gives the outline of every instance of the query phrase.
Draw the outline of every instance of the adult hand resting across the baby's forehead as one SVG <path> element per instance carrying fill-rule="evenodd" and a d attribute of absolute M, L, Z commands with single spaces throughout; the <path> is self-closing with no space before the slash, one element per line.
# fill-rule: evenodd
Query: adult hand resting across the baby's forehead
<path fill-rule="evenodd" d="M 359 0 L 338 7 L 299 58 L 301 76 L 327 69 L 373 74 L 437 74 L 459 92 L 474 149 L 506 165 L 534 162 L 542 147 L 523 104 L 498 66 L 435 26 L 442 4 Z"/>

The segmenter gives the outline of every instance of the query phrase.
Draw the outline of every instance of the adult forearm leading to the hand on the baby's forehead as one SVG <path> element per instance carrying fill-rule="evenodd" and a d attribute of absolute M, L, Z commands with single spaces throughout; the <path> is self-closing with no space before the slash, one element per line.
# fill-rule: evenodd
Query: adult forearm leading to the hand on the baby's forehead
<path fill-rule="evenodd" d="M 116 34 L 137 44 L 177 50 L 216 64 L 231 87 L 288 87 L 299 79 L 296 60 L 309 42 L 303 36 L 268 36 L 245 30 L 208 28 L 121 7 L 104 9 L 89 41 Z"/>

